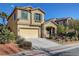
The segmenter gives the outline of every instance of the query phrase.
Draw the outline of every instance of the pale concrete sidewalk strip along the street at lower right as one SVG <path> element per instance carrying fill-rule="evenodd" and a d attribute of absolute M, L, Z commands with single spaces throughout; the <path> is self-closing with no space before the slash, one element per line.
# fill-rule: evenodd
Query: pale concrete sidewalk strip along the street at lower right
<path fill-rule="evenodd" d="M 72 50 L 72 49 L 75 49 L 75 48 L 78 48 L 78 47 L 79 47 L 79 43 L 75 43 L 75 44 L 63 45 L 63 46 L 60 46 L 60 47 L 48 48 L 48 49 L 45 49 L 45 51 L 47 51 L 51 55 L 54 55 L 54 54 L 57 54 L 57 53 L 60 53 L 60 52 L 65 52 L 65 51 L 68 51 L 68 50 Z"/>

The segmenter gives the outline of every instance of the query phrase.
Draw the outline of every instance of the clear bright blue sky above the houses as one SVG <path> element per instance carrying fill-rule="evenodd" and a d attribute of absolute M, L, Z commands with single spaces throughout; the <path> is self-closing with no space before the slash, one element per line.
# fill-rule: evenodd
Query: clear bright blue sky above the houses
<path fill-rule="evenodd" d="M 45 19 L 73 17 L 79 19 L 78 3 L 0 3 L 0 9 L 10 15 L 15 6 L 32 6 L 44 10 Z"/>

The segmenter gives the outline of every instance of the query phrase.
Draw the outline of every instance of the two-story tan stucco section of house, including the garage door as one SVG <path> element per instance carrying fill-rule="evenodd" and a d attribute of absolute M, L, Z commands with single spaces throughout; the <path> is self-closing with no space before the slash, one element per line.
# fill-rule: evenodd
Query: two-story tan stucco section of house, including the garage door
<path fill-rule="evenodd" d="M 43 37 L 44 15 L 40 8 L 16 7 L 8 18 L 8 28 L 24 38 Z"/>

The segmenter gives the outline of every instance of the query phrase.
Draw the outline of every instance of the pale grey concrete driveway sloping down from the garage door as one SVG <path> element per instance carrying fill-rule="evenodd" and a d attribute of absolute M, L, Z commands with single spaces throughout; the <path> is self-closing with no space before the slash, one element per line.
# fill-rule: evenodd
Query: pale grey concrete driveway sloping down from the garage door
<path fill-rule="evenodd" d="M 33 48 L 51 48 L 51 47 L 61 46 L 61 44 L 47 40 L 45 38 L 35 38 L 35 39 L 32 38 L 32 39 L 25 39 L 25 40 L 32 42 Z"/>

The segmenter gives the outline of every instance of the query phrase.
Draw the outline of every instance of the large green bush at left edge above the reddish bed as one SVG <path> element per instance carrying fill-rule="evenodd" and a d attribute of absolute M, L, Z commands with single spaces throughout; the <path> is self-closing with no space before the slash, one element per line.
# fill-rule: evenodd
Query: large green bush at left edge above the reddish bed
<path fill-rule="evenodd" d="M 3 27 L 0 33 L 0 43 L 10 43 L 15 40 L 15 35 L 10 32 L 6 27 Z"/>

